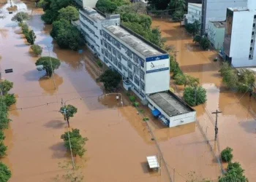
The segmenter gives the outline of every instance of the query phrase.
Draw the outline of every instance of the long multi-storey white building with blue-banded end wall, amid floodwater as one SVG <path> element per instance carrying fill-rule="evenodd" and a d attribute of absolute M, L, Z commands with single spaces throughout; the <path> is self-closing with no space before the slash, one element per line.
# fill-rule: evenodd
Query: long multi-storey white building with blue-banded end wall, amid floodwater
<path fill-rule="evenodd" d="M 120 25 L 120 15 L 105 17 L 89 7 L 80 10 L 80 30 L 94 55 L 121 74 L 124 88 L 135 92 L 143 103 L 150 102 L 156 106 L 154 100 L 148 99 L 150 95 L 164 92 L 170 87 L 170 60 L 167 52 Z M 176 104 L 184 107 L 180 100 Z M 165 106 L 169 107 L 160 105 L 156 108 L 167 116 L 167 108 L 162 108 Z M 169 122 L 170 117 L 166 119 Z M 170 126 L 176 126 L 177 123 Z"/>

